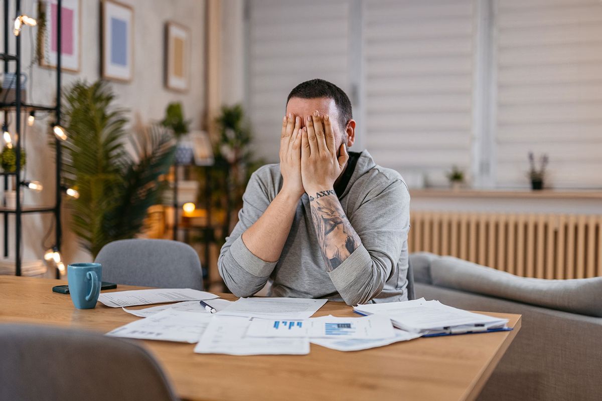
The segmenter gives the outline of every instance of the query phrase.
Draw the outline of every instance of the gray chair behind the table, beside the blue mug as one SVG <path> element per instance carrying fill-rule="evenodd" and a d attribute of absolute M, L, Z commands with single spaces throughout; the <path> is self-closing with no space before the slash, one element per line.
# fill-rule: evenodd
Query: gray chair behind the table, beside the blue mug
<path fill-rule="evenodd" d="M 196 251 L 183 242 L 123 239 L 107 243 L 96 256 L 102 281 L 131 286 L 203 289 Z"/>

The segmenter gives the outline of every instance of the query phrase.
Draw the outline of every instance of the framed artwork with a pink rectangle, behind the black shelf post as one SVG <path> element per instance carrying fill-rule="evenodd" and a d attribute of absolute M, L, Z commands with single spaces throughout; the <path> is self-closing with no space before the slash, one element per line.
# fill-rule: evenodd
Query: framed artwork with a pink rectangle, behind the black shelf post
<path fill-rule="evenodd" d="M 40 26 L 38 52 L 40 66 L 57 67 L 57 0 L 40 1 Z M 81 0 L 63 0 L 61 7 L 61 70 L 79 72 L 81 59 Z"/>

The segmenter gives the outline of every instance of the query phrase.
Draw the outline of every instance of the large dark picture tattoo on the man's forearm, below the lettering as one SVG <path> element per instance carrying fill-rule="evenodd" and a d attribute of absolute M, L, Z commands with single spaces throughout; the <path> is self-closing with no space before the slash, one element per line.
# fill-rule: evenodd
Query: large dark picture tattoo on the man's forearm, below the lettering
<path fill-rule="evenodd" d="M 312 197 L 309 200 L 326 271 L 332 272 L 358 248 L 361 240 L 343 212 L 335 191 L 318 192 L 313 200 Z"/>

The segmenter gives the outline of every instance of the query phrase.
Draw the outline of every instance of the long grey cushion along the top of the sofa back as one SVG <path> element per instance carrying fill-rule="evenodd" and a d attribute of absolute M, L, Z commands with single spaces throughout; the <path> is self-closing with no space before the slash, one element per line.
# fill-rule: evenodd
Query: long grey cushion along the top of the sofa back
<path fill-rule="evenodd" d="M 602 277 L 573 280 L 518 277 L 449 256 L 432 260 L 430 276 L 435 286 L 602 317 Z"/>

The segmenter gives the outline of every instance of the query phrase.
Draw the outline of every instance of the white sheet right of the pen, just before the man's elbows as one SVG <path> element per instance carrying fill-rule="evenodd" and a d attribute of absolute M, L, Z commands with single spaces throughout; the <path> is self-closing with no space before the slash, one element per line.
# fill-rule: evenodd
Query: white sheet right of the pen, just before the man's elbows
<path fill-rule="evenodd" d="M 299 320 L 312 316 L 327 301 L 308 298 L 240 298 L 217 314 Z"/>

